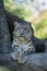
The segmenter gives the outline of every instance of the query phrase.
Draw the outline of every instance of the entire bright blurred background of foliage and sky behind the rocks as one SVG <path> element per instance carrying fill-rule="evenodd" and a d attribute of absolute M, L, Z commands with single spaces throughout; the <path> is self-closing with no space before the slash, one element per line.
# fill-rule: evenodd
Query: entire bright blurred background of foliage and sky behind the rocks
<path fill-rule="evenodd" d="M 4 8 L 31 22 L 36 37 L 47 38 L 47 0 L 4 0 Z"/>

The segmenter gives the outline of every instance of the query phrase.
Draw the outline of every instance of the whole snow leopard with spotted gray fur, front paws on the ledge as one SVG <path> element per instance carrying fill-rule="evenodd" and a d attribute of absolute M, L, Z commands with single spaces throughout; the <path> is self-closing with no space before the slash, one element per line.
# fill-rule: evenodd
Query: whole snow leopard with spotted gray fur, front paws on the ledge
<path fill-rule="evenodd" d="M 12 59 L 17 60 L 19 63 L 27 61 L 28 55 L 35 52 L 35 46 L 32 40 L 33 28 L 27 22 L 14 22 L 13 42 L 12 42 Z"/>

